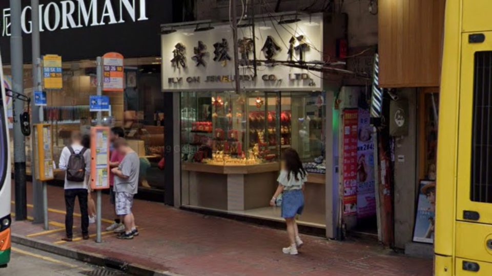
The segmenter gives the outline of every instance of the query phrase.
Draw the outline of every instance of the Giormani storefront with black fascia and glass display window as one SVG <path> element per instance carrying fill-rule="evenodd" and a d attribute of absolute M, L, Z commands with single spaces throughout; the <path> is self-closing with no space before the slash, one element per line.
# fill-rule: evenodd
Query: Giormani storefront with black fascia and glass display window
<path fill-rule="evenodd" d="M 43 122 L 52 125 L 55 163 L 72 131 L 87 133 L 96 113 L 89 109 L 89 97 L 96 94 L 96 57 L 108 52 L 124 59 L 124 92 L 105 92 L 110 111 L 103 112 L 105 124 L 124 128 L 131 146 L 140 156 L 140 194 L 165 201 L 165 110 L 166 95 L 160 93 L 160 25 L 173 18 L 174 1 L 40 1 L 41 52 L 61 56 L 63 88 L 46 89 Z M 25 93 L 32 95 L 30 1 L 23 1 Z M 3 22 L 10 22 L 9 7 Z M 3 24 L 0 47 L 4 64 L 10 60 L 10 27 Z M 9 75 L 10 66 L 4 72 Z M 7 76 L 9 84 L 9 77 Z M 169 116 L 168 116 L 169 117 Z M 11 135 L 13 137 L 13 135 Z M 30 172 L 30 142 L 26 141 L 27 170 Z M 63 172 L 55 173 L 64 179 Z M 172 182 L 169 181 L 169 182 Z M 172 185 L 171 185 L 172 188 Z M 171 189 L 172 194 L 172 189 Z M 169 202 L 172 204 L 172 201 Z"/>

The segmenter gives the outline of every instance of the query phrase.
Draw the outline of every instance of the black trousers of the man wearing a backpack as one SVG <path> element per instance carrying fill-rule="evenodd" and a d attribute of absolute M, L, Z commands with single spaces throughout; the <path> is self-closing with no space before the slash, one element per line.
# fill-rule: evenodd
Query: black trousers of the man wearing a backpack
<path fill-rule="evenodd" d="M 82 221 L 82 235 L 89 235 L 89 213 L 87 211 L 87 189 L 69 189 L 65 190 L 65 205 L 67 215 L 65 215 L 65 230 L 67 238 L 73 237 L 73 209 L 75 206 L 75 197 L 78 197 L 80 205 L 80 220 Z"/>

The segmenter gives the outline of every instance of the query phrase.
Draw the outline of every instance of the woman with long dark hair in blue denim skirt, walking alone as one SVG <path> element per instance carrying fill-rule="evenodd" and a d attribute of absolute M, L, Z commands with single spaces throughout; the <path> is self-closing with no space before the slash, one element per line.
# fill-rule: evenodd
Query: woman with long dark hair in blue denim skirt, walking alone
<path fill-rule="evenodd" d="M 282 218 L 287 224 L 289 234 L 289 246 L 282 248 L 285 254 L 297 255 L 297 249 L 303 244 L 299 238 L 296 215 L 302 213 L 304 208 L 304 183 L 308 174 L 302 167 L 299 154 L 294 149 L 286 149 L 282 154 L 282 169 L 278 176 L 278 188 L 270 200 L 270 205 L 274 206 L 277 197 L 282 194 Z"/>

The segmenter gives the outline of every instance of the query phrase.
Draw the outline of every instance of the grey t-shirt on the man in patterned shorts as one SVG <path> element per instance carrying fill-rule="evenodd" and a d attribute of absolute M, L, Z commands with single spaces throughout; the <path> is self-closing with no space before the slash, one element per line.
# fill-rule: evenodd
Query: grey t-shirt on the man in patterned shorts
<path fill-rule="evenodd" d="M 136 194 L 138 191 L 138 175 L 140 173 L 140 159 L 135 152 L 128 153 L 121 161 L 118 169 L 127 179 L 114 176 L 114 191 Z"/>

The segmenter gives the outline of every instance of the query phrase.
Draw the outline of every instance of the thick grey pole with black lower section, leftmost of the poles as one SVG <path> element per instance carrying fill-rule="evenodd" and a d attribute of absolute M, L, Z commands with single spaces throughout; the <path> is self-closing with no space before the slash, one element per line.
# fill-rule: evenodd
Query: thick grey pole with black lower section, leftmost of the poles
<path fill-rule="evenodd" d="M 20 1 L 10 0 L 11 37 L 10 60 L 12 64 L 12 88 L 24 93 L 22 28 L 20 26 Z M 27 219 L 26 199 L 26 141 L 20 127 L 20 114 L 24 112 L 24 102 L 14 101 L 14 175 L 15 175 L 15 220 Z"/>

